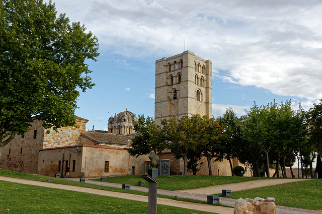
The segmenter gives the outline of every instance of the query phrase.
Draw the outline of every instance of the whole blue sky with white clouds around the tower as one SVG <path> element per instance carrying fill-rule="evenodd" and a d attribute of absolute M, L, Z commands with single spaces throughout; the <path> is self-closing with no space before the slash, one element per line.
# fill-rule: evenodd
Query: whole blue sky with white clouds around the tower
<path fill-rule="evenodd" d="M 154 117 L 155 60 L 185 50 L 212 61 L 213 115 L 241 116 L 292 100 L 308 110 L 322 98 L 322 2 L 53 0 L 58 13 L 99 39 L 96 84 L 76 115 L 104 130 L 127 108 Z"/>

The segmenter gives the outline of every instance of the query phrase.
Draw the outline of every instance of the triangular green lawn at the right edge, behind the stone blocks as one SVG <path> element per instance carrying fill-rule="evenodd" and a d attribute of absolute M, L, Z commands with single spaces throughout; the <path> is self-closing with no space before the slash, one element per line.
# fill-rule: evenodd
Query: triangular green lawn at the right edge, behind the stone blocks
<path fill-rule="evenodd" d="M 220 195 L 220 194 L 216 194 Z M 303 180 L 274 186 L 232 192 L 230 198 L 275 197 L 276 205 L 322 209 L 322 179 Z"/>

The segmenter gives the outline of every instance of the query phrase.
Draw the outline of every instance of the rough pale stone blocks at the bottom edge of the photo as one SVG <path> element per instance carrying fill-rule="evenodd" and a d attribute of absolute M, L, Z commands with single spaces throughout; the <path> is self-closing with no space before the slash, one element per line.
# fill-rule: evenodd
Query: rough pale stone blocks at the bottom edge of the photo
<path fill-rule="evenodd" d="M 256 197 L 251 198 L 239 198 L 235 202 L 233 209 L 234 214 L 275 214 L 275 198 L 268 197 L 264 198 Z"/>

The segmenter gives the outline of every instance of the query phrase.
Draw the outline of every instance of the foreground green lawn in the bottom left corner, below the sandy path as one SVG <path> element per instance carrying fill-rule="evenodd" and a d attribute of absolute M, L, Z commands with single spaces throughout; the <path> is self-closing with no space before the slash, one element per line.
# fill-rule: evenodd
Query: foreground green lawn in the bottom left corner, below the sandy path
<path fill-rule="evenodd" d="M 0 212 L 147 213 L 148 203 L 103 195 L 0 181 Z M 157 205 L 157 213 L 209 213 Z"/>

